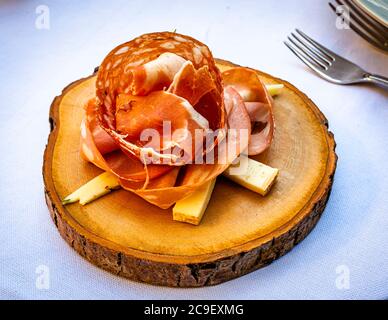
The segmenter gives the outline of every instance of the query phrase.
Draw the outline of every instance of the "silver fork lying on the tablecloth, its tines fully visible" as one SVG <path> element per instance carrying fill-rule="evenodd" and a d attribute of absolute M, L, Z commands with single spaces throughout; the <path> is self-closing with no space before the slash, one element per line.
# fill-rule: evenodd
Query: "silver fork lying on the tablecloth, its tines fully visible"
<path fill-rule="evenodd" d="M 370 82 L 388 87 L 388 78 L 363 70 L 298 29 L 287 39 L 284 44 L 308 67 L 330 82 L 336 84 Z"/>

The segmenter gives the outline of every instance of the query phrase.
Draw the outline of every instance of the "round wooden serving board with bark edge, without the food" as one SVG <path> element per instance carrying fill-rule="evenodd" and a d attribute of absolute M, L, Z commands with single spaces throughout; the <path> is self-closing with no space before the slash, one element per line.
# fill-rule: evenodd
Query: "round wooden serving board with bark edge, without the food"
<path fill-rule="evenodd" d="M 233 64 L 218 60 L 223 71 Z M 333 182 L 335 141 L 314 103 L 286 81 L 258 71 L 265 83 L 283 83 L 275 98 L 275 137 L 255 159 L 280 169 L 262 197 L 217 178 L 199 226 L 172 220 L 125 190 L 86 206 L 61 199 L 101 173 L 79 155 L 83 105 L 95 76 L 55 98 L 44 155 L 46 201 L 61 236 L 97 266 L 136 281 L 176 287 L 218 284 L 261 268 L 306 237 L 319 220 Z"/>

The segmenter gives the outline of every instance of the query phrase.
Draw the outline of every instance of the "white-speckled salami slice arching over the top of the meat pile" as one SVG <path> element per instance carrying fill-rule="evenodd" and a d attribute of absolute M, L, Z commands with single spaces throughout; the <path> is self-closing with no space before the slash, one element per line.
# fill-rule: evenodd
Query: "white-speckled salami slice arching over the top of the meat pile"
<path fill-rule="evenodd" d="M 102 102 L 104 121 L 114 127 L 115 101 L 120 93 L 129 93 L 132 73 L 136 67 L 156 60 L 164 53 L 171 53 L 191 61 L 196 69 L 208 66 L 217 94 L 214 102 L 222 105 L 221 74 L 209 48 L 194 38 L 173 32 L 144 34 L 113 49 L 100 65 L 97 74 L 96 95 Z M 224 119 L 219 119 L 222 126 Z"/>

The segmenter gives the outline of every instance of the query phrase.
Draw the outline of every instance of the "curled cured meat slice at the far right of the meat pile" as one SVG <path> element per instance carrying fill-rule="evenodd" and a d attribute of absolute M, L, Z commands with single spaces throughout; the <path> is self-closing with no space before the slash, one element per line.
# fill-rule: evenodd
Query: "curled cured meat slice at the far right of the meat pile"
<path fill-rule="evenodd" d="M 232 68 L 222 73 L 224 84 L 238 91 L 252 121 L 249 155 L 266 150 L 273 138 L 272 98 L 257 73 L 248 68 Z"/>

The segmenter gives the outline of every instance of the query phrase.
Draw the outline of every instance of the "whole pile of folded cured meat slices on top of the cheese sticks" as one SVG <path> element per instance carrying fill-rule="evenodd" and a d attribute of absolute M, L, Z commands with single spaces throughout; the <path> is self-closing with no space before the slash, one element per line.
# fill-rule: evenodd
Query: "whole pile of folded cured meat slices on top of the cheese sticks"
<path fill-rule="evenodd" d="M 150 33 L 102 62 L 96 97 L 85 106 L 81 155 L 168 208 L 241 153 L 268 148 L 272 135 L 272 100 L 254 71 L 221 75 L 206 45 Z"/>

